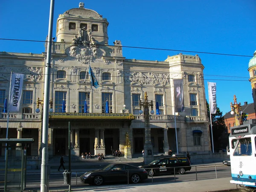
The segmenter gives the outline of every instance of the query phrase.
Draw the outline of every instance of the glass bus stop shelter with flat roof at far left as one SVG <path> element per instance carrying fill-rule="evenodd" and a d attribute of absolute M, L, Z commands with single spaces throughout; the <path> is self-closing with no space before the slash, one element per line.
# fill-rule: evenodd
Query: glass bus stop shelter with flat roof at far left
<path fill-rule="evenodd" d="M 1 165 L 4 172 L 0 172 L 0 191 L 23 192 L 26 188 L 26 145 L 33 142 L 33 138 L 0 139 L 0 146 L 6 148 L 5 165 Z"/>

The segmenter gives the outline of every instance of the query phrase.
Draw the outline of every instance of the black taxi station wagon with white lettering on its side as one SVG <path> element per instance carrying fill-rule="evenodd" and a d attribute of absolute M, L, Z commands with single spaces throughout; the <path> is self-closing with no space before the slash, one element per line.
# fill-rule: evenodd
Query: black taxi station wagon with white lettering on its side
<path fill-rule="evenodd" d="M 186 171 L 190 171 L 191 166 L 187 157 L 165 157 L 154 160 L 148 165 L 141 166 L 141 168 L 146 169 L 148 176 L 151 177 L 152 175 L 172 174 L 174 173 L 174 168 L 175 172 L 182 175 Z"/>

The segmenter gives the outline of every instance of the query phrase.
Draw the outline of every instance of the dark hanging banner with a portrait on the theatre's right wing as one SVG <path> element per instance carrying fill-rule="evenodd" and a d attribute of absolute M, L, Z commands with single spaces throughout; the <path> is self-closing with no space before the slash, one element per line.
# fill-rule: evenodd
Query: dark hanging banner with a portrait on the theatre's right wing
<path fill-rule="evenodd" d="M 183 80 L 173 79 L 174 84 L 174 97 L 175 97 L 175 112 L 184 111 L 184 92 L 183 92 Z"/>

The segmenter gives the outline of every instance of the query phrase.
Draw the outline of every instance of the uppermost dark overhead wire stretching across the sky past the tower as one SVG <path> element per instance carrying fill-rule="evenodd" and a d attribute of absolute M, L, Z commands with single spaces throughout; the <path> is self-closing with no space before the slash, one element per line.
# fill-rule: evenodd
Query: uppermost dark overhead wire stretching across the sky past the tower
<path fill-rule="evenodd" d="M 25 39 L 6 39 L 0 38 L 0 40 L 5 41 L 28 41 L 28 42 L 43 42 L 43 43 L 58 43 L 58 44 L 72 44 L 72 42 L 57 42 L 57 41 L 38 41 L 38 40 L 25 40 Z M 117 47 L 114 45 L 100 45 L 107 47 Z M 193 53 L 203 53 L 203 54 L 212 54 L 212 55 L 227 55 L 227 56 L 237 56 L 237 57 L 256 57 L 252 55 L 237 55 L 237 54 L 227 54 L 227 53 L 217 53 L 217 52 L 203 52 L 203 51 L 188 51 L 188 50 L 178 50 L 178 49 L 161 49 L 161 48 L 151 48 L 151 47 L 132 47 L 132 46 L 120 46 L 125 48 L 134 48 L 134 49 L 151 49 L 151 50 L 161 50 L 161 51 L 178 51 L 178 52 L 193 52 Z"/>

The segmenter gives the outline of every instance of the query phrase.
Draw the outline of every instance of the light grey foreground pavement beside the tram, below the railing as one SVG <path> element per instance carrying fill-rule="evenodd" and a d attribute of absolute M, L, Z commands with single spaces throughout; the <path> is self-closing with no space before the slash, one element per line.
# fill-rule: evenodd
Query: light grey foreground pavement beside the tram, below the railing
<path fill-rule="evenodd" d="M 195 180 L 186 182 L 171 182 L 171 183 L 139 183 L 139 184 L 122 184 L 122 185 L 103 185 L 103 186 L 90 186 L 76 188 L 71 186 L 73 192 L 225 192 L 236 191 L 236 185 L 230 183 L 231 177 L 208 179 L 208 180 Z M 67 187 L 61 187 L 56 190 L 49 190 L 50 192 L 67 192 Z"/>

